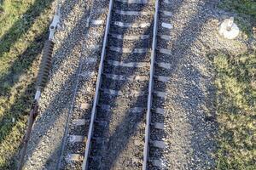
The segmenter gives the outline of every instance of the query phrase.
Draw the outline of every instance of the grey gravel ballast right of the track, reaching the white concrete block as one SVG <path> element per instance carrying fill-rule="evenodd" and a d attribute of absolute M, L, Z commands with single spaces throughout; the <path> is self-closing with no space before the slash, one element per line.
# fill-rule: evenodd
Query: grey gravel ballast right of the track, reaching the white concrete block
<path fill-rule="evenodd" d="M 160 157 L 164 169 L 214 169 L 212 156 L 216 150 L 214 69 L 207 54 L 215 50 L 242 53 L 247 45 L 241 37 L 225 40 L 218 36 L 218 25 L 229 15 L 218 11 L 218 1 L 162 1 L 160 11 L 172 12 L 170 18 L 160 15 L 159 35 L 170 41 L 158 40 L 157 47 L 171 54 L 156 55 L 157 62 L 171 64 L 168 71 L 156 68 L 156 76 L 167 76 L 165 84 L 155 82 L 154 89 L 165 91 L 166 99 L 154 97 L 154 106 L 165 109 L 165 116 L 152 115 L 153 122 L 164 122 L 159 133 L 165 150 L 151 149 L 151 156 Z M 172 24 L 171 31 L 162 23 Z M 155 121 L 159 119 L 158 121 Z M 152 133 L 154 139 L 157 136 Z"/>

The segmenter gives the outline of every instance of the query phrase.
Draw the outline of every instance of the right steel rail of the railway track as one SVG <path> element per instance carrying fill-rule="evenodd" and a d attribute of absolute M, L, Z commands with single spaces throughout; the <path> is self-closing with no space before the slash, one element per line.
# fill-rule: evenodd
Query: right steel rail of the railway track
<path fill-rule="evenodd" d="M 158 25 L 158 10 L 159 0 L 155 1 L 154 11 L 154 30 L 153 30 L 153 42 L 151 51 L 151 63 L 150 63 L 150 77 L 148 86 L 148 105 L 147 105 L 147 116 L 146 116 L 146 128 L 145 128 L 145 144 L 143 150 L 143 170 L 147 169 L 148 165 L 148 142 L 150 139 L 150 122 L 151 122 L 151 106 L 152 106 L 152 92 L 154 88 L 154 61 L 155 61 L 155 48 L 156 48 L 156 34 Z"/>

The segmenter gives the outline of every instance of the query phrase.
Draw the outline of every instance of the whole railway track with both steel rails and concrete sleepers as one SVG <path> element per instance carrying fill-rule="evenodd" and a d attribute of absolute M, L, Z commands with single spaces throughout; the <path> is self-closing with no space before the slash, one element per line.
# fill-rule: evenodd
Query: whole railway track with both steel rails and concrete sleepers
<path fill-rule="evenodd" d="M 90 19 L 90 25 L 106 25 L 101 45 L 91 45 L 91 54 L 101 58 L 81 58 L 76 93 L 85 99 L 74 99 L 60 168 L 166 168 L 163 103 L 171 51 L 163 43 L 171 39 L 172 25 L 165 21 L 172 14 L 160 11 L 168 1 L 161 3 L 110 0 L 108 10 L 97 9 L 108 11 L 106 23 Z M 83 72 L 88 64 L 98 72 Z"/>

